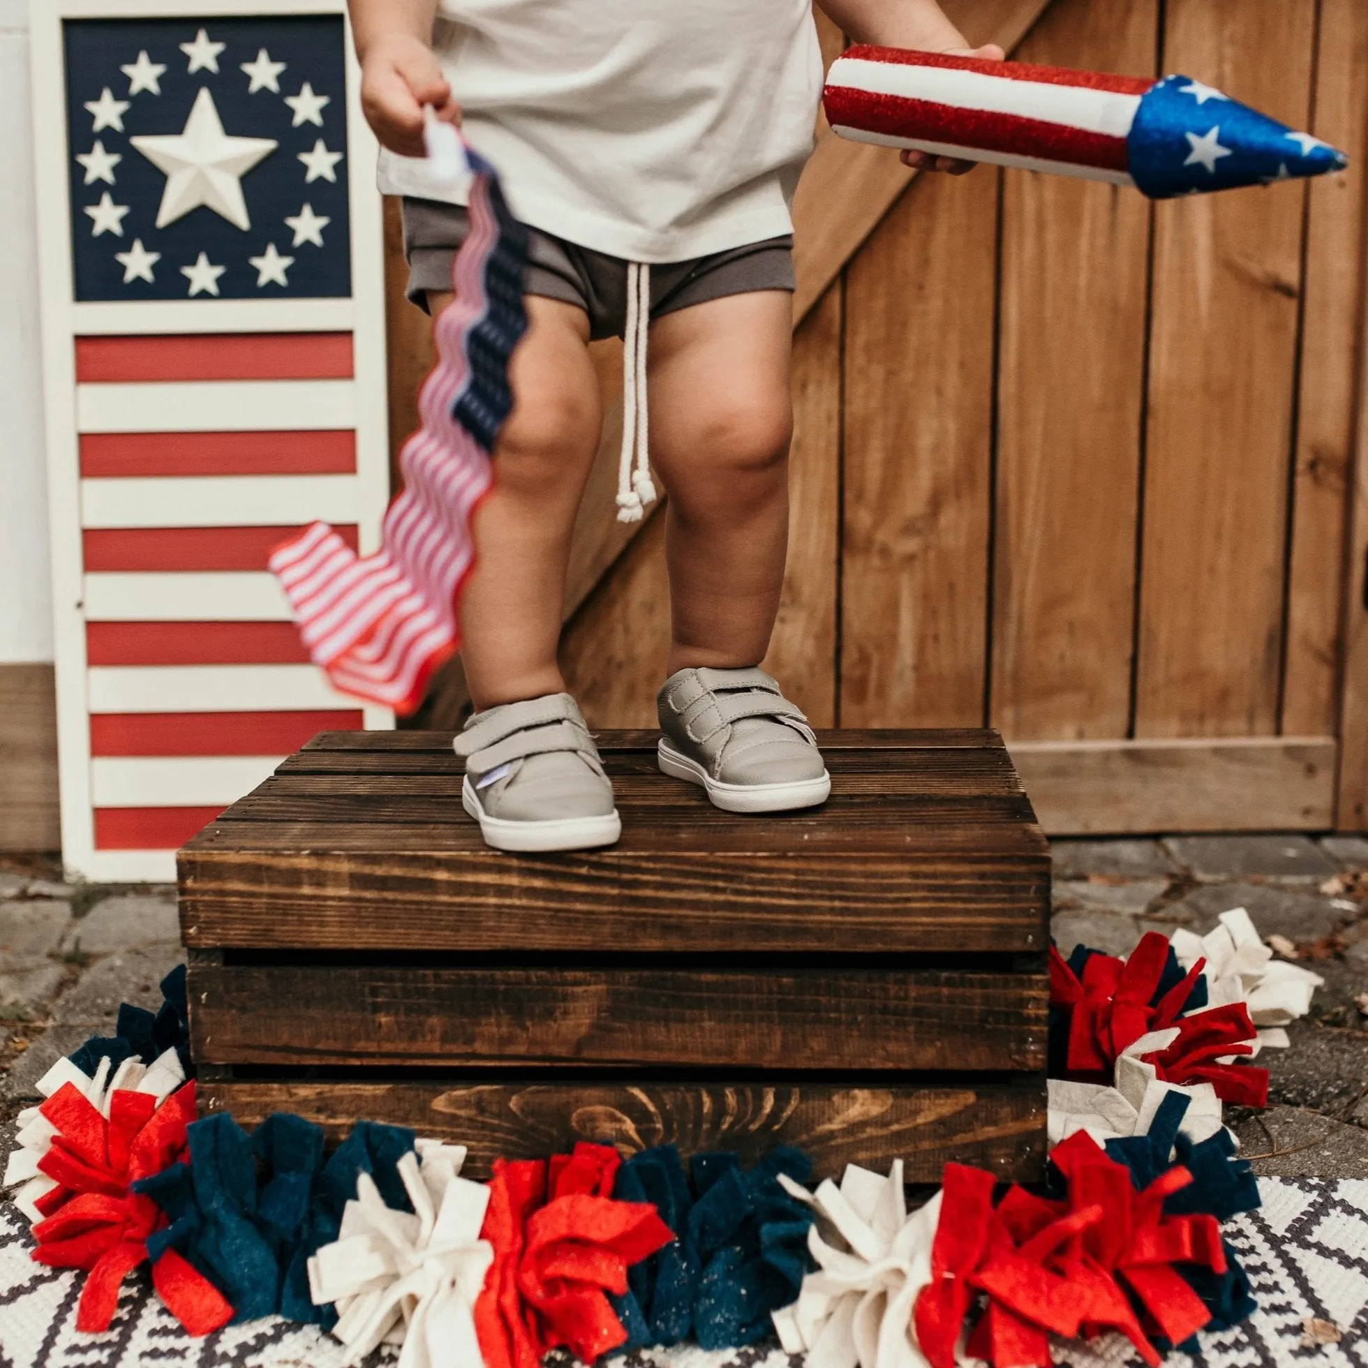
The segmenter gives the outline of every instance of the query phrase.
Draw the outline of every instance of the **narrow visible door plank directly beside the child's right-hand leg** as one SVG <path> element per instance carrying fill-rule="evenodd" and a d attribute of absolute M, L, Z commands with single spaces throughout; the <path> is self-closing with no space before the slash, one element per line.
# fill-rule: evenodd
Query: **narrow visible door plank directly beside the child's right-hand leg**
<path fill-rule="evenodd" d="M 836 725 L 841 283 L 793 335 L 788 565 L 765 669 L 814 726 Z"/>

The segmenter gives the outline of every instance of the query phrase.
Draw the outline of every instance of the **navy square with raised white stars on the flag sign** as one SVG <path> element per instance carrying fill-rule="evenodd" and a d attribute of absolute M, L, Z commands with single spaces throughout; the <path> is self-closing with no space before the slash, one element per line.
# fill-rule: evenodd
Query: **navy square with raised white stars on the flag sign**
<path fill-rule="evenodd" d="M 63 30 L 77 300 L 352 293 L 341 15 Z"/>

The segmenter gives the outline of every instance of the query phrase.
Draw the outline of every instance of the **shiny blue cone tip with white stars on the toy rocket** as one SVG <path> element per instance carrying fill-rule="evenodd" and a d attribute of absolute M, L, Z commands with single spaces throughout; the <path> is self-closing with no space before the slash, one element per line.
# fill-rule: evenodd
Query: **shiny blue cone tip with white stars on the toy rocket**
<path fill-rule="evenodd" d="M 1130 174 L 1167 200 L 1342 171 L 1332 146 L 1192 77 L 1166 77 L 1140 101 L 1126 140 Z"/>

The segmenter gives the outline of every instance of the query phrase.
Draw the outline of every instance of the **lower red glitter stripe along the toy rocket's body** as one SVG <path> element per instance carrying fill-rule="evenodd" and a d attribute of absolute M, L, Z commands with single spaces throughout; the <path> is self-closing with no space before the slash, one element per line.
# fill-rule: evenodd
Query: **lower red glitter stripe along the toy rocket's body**
<path fill-rule="evenodd" d="M 922 142 L 949 142 L 981 152 L 1010 152 L 1022 157 L 1108 171 L 1127 168 L 1124 138 L 1109 138 L 1067 123 L 962 109 L 952 104 L 907 100 L 896 94 L 870 94 L 850 86 L 828 86 L 824 104 L 826 118 L 837 127 L 862 129 L 893 138 L 917 138 Z"/>

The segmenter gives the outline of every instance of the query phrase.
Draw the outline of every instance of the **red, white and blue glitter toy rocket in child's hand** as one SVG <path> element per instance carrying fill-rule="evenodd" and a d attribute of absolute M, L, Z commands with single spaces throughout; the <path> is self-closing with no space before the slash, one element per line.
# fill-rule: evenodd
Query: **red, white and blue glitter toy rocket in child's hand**
<path fill-rule="evenodd" d="M 855 47 L 832 63 L 824 104 L 844 138 L 1133 185 L 1156 200 L 1347 166 L 1309 133 L 1189 77 Z"/>

